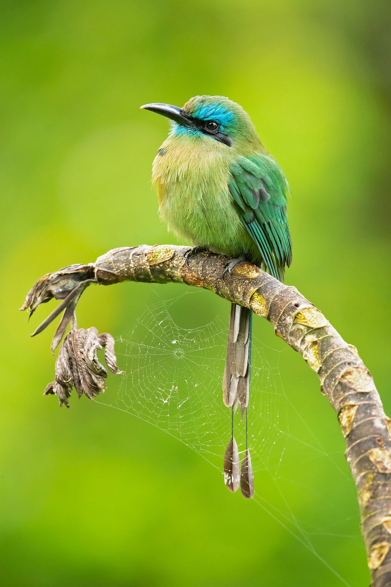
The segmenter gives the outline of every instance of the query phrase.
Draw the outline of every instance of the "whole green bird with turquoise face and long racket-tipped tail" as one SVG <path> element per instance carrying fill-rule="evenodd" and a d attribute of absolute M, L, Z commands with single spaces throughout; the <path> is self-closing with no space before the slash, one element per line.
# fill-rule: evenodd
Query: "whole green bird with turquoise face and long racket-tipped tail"
<path fill-rule="evenodd" d="M 288 181 L 263 146 L 250 116 L 224 96 L 195 96 L 183 107 L 141 106 L 170 119 L 171 128 L 153 161 L 161 220 L 180 239 L 227 255 L 225 272 L 248 261 L 283 281 L 292 261 L 286 213 Z M 247 407 L 250 396 L 252 312 L 231 304 L 223 401 L 230 407 L 231 440 L 224 455 L 225 485 L 254 495 Z M 246 450 L 240 467 L 234 412 L 245 412 Z"/>

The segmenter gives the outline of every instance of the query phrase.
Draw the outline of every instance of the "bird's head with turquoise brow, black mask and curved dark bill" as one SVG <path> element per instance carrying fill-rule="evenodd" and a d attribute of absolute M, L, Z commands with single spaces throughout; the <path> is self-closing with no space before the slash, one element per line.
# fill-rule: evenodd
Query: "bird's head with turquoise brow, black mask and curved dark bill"
<path fill-rule="evenodd" d="M 217 141 L 227 147 L 241 141 L 258 140 L 254 125 L 242 107 L 223 96 L 195 96 L 180 108 L 170 104 L 145 104 L 151 110 L 172 121 L 171 133 Z M 213 143 L 211 143 L 213 144 Z"/>

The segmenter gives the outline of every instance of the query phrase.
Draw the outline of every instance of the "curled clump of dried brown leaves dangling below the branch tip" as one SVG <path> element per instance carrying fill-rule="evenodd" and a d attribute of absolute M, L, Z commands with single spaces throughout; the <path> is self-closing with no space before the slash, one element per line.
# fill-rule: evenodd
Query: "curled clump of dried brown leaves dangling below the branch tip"
<path fill-rule="evenodd" d="M 97 350 L 105 347 L 107 367 L 120 375 L 114 353 L 114 339 L 110 334 L 99 335 L 96 328 L 71 330 L 66 335 L 56 359 L 55 380 L 46 387 L 44 394 L 55 394 L 60 406 L 69 407 L 68 397 L 75 387 L 80 397 L 84 393 L 90 399 L 106 389 L 107 371 L 97 358 Z"/>

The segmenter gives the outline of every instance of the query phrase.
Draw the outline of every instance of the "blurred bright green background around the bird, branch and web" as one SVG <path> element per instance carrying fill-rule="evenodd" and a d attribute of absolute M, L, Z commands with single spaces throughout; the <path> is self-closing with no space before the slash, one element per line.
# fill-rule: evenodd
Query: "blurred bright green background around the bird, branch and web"
<path fill-rule="evenodd" d="M 270 360 L 279 355 L 286 396 L 327 453 L 315 461 L 292 446 L 285 490 L 326 564 L 159 428 L 85 397 L 70 410 L 43 398 L 53 328 L 29 333 L 49 306 L 30 324 L 17 308 L 48 271 L 175 242 L 150 191 L 167 121 L 139 107 L 229 96 L 291 184 L 286 282 L 358 347 L 391 413 L 390 25 L 386 0 L 2 2 L 2 585 L 368 585 L 338 421 L 314 373 L 266 323 L 257 336 L 280 351 Z M 167 301 L 181 293 L 90 288 L 79 325 L 129 332 L 153 288 Z M 188 303 L 170 309 L 184 326 L 227 318 L 227 303 L 208 292 L 188 299 L 191 316 Z M 114 403 L 114 376 L 108 385 Z M 272 502 L 273 482 L 259 474 L 257 483 Z M 321 529 L 311 534 L 314 519 Z"/>

